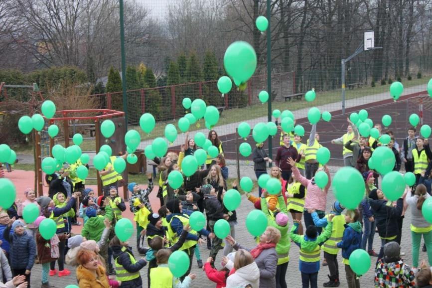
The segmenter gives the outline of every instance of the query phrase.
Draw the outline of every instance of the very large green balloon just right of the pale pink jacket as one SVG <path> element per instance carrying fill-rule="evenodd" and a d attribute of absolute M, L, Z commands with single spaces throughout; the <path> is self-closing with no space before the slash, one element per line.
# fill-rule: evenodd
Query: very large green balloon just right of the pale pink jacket
<path fill-rule="evenodd" d="M 386 149 L 390 150 L 387 147 Z M 342 167 L 337 170 L 332 186 L 336 199 L 347 209 L 356 209 L 364 198 L 365 181 L 360 172 L 353 167 Z M 348 187 L 349 193 L 347 193 Z"/>

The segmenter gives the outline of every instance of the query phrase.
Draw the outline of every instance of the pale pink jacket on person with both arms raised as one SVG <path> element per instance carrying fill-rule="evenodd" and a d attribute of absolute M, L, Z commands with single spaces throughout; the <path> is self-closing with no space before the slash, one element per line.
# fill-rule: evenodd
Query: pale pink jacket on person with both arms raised
<path fill-rule="evenodd" d="M 316 184 L 312 184 L 312 180 L 308 180 L 306 179 L 306 177 L 303 177 L 298 171 L 297 167 L 292 167 L 292 173 L 294 173 L 295 179 L 297 179 L 297 181 L 299 181 L 301 185 L 303 185 L 307 189 L 306 199 L 304 201 L 304 208 L 313 208 L 315 210 L 325 211 L 325 204 L 327 203 L 327 192 L 328 189 L 330 189 L 331 185 L 330 173 L 327 172 L 328 183 L 324 187 L 324 190 L 321 190 L 321 188 L 316 186 Z"/>

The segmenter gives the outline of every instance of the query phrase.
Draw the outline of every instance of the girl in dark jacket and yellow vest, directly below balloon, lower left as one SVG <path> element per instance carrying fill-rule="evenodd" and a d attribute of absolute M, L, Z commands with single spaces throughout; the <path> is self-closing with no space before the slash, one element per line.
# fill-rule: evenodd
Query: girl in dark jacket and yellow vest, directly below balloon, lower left
<path fill-rule="evenodd" d="M 147 264 L 144 258 L 136 260 L 128 241 L 120 241 L 117 236 L 110 242 L 116 265 L 117 281 L 122 282 L 122 288 L 143 287 L 140 270 Z"/>

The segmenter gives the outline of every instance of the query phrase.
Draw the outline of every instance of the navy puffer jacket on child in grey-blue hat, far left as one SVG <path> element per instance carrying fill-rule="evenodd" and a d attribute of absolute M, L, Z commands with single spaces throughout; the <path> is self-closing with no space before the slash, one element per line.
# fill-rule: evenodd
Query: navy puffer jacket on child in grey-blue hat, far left
<path fill-rule="evenodd" d="M 4 238 L 10 243 L 9 264 L 12 269 L 31 270 L 36 257 L 36 242 L 24 231 L 22 235 L 10 232 L 10 226 L 4 229 Z"/>

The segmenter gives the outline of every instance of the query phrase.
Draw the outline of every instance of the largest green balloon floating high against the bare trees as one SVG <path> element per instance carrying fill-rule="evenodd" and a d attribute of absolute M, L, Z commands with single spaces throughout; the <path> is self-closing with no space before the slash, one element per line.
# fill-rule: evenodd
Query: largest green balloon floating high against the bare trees
<path fill-rule="evenodd" d="M 229 76 L 245 83 L 255 73 L 257 54 L 251 44 L 236 41 L 228 46 L 224 55 L 224 67 Z"/>

